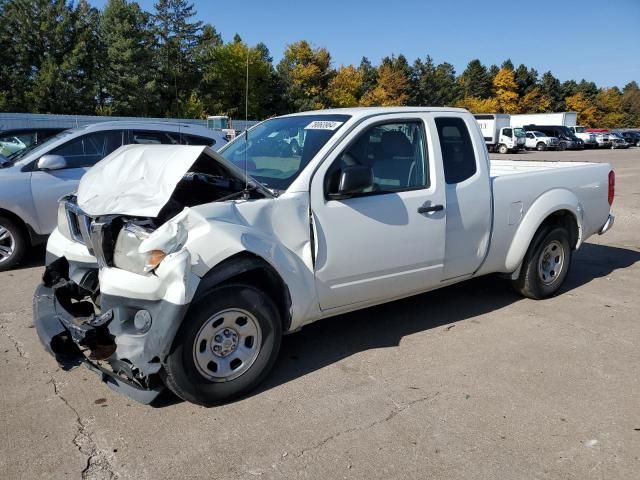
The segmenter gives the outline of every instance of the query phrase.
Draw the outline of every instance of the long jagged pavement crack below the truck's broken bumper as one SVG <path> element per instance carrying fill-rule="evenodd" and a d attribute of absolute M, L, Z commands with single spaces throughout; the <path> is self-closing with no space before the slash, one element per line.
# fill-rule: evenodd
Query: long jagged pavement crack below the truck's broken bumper
<path fill-rule="evenodd" d="M 120 478 L 113 471 L 113 465 L 107 454 L 100 450 L 96 445 L 91 433 L 89 433 L 86 421 L 82 420 L 78 411 L 69 403 L 69 401 L 60 393 L 58 382 L 51 378 L 48 383 L 53 385 L 53 393 L 73 412 L 76 417 L 78 433 L 73 438 L 73 444 L 78 448 L 80 453 L 87 456 L 87 464 L 81 472 L 81 478 L 99 479 L 99 480 L 116 480 Z"/>

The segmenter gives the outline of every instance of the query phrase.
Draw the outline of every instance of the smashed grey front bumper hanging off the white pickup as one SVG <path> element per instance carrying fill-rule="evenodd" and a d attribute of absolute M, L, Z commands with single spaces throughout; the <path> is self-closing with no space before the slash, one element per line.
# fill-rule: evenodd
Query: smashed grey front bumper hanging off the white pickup
<path fill-rule="evenodd" d="M 188 305 L 102 294 L 69 280 L 62 257 L 47 266 L 33 298 L 33 323 L 45 350 L 64 368 L 84 364 L 110 388 L 141 403 L 164 390 L 162 361 Z"/>

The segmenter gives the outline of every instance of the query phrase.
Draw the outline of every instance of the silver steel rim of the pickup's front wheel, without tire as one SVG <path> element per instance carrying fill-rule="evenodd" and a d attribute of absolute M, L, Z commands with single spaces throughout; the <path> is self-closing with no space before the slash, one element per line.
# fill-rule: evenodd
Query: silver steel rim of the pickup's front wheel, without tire
<path fill-rule="evenodd" d="M 204 378 L 228 382 L 243 375 L 260 353 L 256 317 L 240 308 L 218 312 L 204 322 L 193 344 L 193 362 Z"/>

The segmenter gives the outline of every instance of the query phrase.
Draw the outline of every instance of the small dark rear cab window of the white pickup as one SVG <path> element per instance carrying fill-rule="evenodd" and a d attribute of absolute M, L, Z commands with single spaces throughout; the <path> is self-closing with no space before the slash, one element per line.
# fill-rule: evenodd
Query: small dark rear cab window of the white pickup
<path fill-rule="evenodd" d="M 476 173 L 476 156 L 469 130 L 462 118 L 435 119 L 442 148 L 444 178 L 448 184 L 460 183 Z"/>

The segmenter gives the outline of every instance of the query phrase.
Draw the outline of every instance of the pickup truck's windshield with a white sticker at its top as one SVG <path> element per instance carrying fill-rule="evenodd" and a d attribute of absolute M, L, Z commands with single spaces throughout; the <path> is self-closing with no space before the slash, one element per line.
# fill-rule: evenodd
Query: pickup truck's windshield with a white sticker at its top
<path fill-rule="evenodd" d="M 296 115 L 267 120 L 222 150 L 226 160 L 268 188 L 286 190 L 318 151 L 349 120 L 348 115 Z"/>

